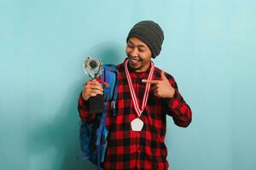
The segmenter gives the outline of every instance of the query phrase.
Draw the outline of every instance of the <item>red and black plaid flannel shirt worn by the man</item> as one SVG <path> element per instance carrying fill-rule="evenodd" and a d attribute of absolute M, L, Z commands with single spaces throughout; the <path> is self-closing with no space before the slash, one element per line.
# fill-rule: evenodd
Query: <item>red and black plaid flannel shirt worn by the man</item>
<path fill-rule="evenodd" d="M 104 169 L 167 169 L 167 150 L 165 144 L 166 115 L 172 116 L 177 126 L 187 127 L 191 122 L 192 112 L 177 90 L 174 78 L 166 74 L 175 94 L 172 99 L 160 99 L 150 89 L 148 104 L 140 116 L 143 120 L 142 132 L 131 130 L 131 121 L 137 118 L 134 110 L 129 86 L 125 77 L 124 63 L 117 65 L 119 71 L 119 88 L 117 99 L 117 116 L 108 113 L 107 127 L 108 149 L 106 151 Z M 142 102 L 145 83 L 150 68 L 143 73 L 131 72 L 131 82 L 138 99 Z M 153 80 L 160 80 L 161 71 L 154 68 Z M 141 105 L 141 103 L 139 103 Z M 108 110 L 110 112 L 110 110 Z M 88 113 L 88 104 L 79 96 L 79 114 L 84 122 L 93 122 L 95 115 Z"/>

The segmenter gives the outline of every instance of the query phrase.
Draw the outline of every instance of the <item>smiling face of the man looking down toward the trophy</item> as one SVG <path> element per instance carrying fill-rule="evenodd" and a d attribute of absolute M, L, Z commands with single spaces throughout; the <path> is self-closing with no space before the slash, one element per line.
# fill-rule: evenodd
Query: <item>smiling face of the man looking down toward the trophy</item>
<path fill-rule="evenodd" d="M 129 65 L 136 72 L 147 71 L 151 60 L 151 51 L 148 46 L 137 37 L 130 37 L 125 50 Z"/>

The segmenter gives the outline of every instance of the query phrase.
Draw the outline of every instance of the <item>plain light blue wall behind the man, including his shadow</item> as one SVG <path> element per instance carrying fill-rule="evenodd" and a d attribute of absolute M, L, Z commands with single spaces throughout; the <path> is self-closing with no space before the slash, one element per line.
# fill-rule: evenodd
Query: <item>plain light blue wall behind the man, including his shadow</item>
<path fill-rule="evenodd" d="M 156 66 L 193 111 L 168 117 L 172 170 L 255 170 L 256 1 L 0 1 L 0 169 L 94 169 L 79 153 L 84 56 L 125 59 L 137 21 L 165 31 Z"/>

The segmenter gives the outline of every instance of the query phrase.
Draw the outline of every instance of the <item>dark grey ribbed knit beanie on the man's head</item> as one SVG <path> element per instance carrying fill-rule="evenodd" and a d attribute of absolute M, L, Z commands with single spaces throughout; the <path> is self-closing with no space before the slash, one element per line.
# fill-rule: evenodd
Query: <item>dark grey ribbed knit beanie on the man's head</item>
<path fill-rule="evenodd" d="M 160 54 L 161 45 L 164 41 L 164 31 L 154 21 L 143 20 L 131 28 L 126 42 L 130 37 L 137 37 L 146 43 L 152 53 L 152 57 L 155 58 Z"/>

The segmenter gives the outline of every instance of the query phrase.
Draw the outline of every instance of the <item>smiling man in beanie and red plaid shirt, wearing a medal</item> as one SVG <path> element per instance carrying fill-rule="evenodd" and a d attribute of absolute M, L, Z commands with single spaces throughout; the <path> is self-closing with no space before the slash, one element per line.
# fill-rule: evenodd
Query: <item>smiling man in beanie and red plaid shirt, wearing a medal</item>
<path fill-rule="evenodd" d="M 108 149 L 104 169 L 167 169 L 166 115 L 187 127 L 192 113 L 178 92 L 174 78 L 154 67 L 164 34 L 151 20 L 138 22 L 126 39 L 127 58 L 117 65 L 119 88 L 117 115 L 108 114 Z M 103 94 L 102 85 L 89 81 L 79 96 L 82 121 L 93 122 L 87 100 Z"/>

